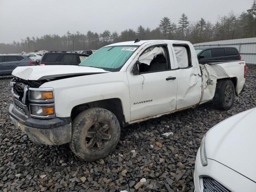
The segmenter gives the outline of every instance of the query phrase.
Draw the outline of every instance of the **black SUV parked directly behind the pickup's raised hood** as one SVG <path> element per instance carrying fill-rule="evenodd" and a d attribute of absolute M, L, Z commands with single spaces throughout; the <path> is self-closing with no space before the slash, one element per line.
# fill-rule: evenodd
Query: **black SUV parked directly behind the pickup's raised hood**
<path fill-rule="evenodd" d="M 44 54 L 40 65 L 78 65 L 89 55 L 68 51 L 50 51 Z"/>

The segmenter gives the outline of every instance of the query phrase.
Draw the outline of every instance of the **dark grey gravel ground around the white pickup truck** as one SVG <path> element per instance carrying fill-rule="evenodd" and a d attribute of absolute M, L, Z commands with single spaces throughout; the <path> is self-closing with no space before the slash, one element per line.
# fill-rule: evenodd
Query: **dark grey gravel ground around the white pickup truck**
<path fill-rule="evenodd" d="M 231 110 L 212 102 L 122 129 L 114 152 L 97 162 L 79 160 L 62 146 L 39 146 L 8 117 L 11 77 L 0 77 L 0 191 L 194 191 L 200 139 L 220 121 L 256 106 L 256 66 Z M 173 136 L 162 136 L 173 132 Z M 137 188 L 142 178 L 143 186 Z M 142 180 L 144 181 L 144 180 Z M 136 185 L 137 184 L 137 185 Z"/>

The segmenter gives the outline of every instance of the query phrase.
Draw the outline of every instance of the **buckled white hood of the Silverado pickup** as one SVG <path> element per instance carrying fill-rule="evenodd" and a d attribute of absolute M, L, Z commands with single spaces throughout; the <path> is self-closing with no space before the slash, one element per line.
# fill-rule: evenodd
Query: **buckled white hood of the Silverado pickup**
<path fill-rule="evenodd" d="M 108 73 L 103 69 L 73 65 L 23 66 L 13 70 L 12 75 L 25 80 L 44 80 L 70 76 Z"/>

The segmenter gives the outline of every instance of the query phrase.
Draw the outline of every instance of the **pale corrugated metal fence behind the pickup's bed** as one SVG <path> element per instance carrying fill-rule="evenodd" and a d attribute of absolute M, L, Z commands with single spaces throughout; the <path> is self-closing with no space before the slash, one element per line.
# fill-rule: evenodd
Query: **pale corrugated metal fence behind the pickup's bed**
<path fill-rule="evenodd" d="M 245 60 L 246 64 L 256 64 L 256 38 L 233 39 L 194 44 L 195 48 L 223 46 L 236 47 L 242 56 L 242 60 Z"/>

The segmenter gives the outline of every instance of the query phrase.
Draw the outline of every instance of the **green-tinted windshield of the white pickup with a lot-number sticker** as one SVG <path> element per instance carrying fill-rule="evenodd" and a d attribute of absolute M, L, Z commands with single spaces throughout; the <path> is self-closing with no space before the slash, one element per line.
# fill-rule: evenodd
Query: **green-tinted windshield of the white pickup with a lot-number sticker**
<path fill-rule="evenodd" d="M 138 46 L 103 47 L 79 65 L 102 68 L 108 71 L 119 71 L 137 48 Z"/>

